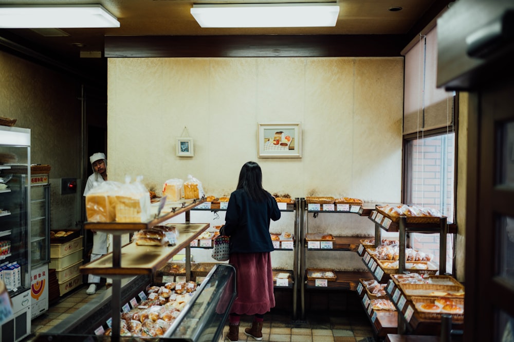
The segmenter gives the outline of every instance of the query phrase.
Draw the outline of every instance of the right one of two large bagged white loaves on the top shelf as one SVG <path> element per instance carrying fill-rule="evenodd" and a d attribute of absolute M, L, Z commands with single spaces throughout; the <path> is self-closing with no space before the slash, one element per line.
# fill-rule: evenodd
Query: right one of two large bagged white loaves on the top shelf
<path fill-rule="evenodd" d="M 142 179 L 142 176 L 137 176 L 131 183 L 131 177 L 125 176 L 125 184 L 116 194 L 116 222 L 150 220 L 150 193 L 141 183 Z"/>

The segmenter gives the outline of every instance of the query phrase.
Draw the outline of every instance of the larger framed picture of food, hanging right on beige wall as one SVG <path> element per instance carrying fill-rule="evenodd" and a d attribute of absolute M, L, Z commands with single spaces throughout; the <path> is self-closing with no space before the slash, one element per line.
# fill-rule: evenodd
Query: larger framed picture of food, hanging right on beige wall
<path fill-rule="evenodd" d="M 258 157 L 301 158 L 300 122 L 259 122 Z"/>

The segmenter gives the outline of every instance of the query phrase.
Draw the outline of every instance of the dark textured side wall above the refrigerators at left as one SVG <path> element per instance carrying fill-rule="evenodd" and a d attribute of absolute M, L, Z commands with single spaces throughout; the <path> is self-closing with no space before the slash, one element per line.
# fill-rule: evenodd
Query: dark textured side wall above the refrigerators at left
<path fill-rule="evenodd" d="M 61 177 L 80 176 L 80 84 L 0 51 L 0 116 L 31 130 L 31 163 L 51 165 L 52 229 L 75 228 L 81 199 L 61 195 Z"/>

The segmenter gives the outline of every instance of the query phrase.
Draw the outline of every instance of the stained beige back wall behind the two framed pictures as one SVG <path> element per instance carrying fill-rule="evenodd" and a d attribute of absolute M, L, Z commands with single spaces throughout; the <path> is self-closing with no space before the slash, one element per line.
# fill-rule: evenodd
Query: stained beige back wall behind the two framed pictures
<path fill-rule="evenodd" d="M 402 94 L 402 58 L 109 59 L 109 179 L 193 174 L 221 196 L 255 160 L 270 192 L 399 202 Z M 302 158 L 257 157 L 274 121 L 302 123 Z M 192 158 L 175 156 L 185 127 Z"/>

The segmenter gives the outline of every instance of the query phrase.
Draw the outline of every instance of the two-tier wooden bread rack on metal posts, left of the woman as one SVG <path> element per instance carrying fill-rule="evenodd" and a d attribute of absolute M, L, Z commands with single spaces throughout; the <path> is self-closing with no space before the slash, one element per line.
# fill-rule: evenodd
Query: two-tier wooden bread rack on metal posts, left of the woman
<path fill-rule="evenodd" d="M 180 204 L 180 207 L 168 208 L 163 213 L 160 210 L 155 212 L 154 219 L 150 222 L 84 223 L 85 229 L 101 230 L 113 235 L 113 252 L 81 266 L 80 270 L 82 274 L 94 274 L 112 278 L 111 308 L 114 338 L 119 338 L 121 319 L 119 309 L 121 303 L 121 280 L 123 278 L 138 275 L 151 276 L 183 248 L 186 248 L 186 275 L 191 274 L 190 241 L 204 232 L 209 227 L 209 224 L 190 224 L 189 211 L 203 202 L 205 202 L 205 199 L 185 200 Z M 181 213 L 186 213 L 186 223 L 174 224 L 179 232 L 174 246 L 136 246 L 135 243 L 121 246 L 121 236 L 123 234 L 141 229 L 149 229 Z"/>

